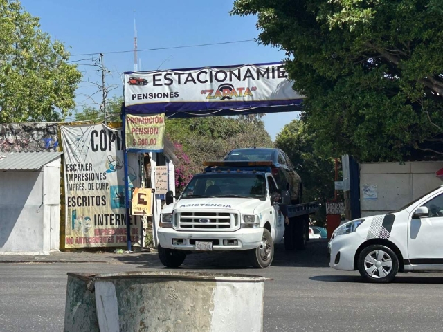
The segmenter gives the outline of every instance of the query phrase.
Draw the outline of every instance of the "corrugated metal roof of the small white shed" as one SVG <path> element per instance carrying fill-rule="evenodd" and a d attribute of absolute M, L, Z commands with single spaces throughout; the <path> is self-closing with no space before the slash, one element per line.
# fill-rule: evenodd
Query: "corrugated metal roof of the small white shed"
<path fill-rule="evenodd" d="M 0 171 L 37 171 L 63 152 L 0 152 Z"/>

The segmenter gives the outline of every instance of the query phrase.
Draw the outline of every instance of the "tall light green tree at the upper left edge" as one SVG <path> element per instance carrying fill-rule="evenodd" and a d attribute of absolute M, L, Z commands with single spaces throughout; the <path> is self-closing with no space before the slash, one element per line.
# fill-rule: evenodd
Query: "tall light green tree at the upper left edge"
<path fill-rule="evenodd" d="M 0 0 L 0 123 L 57 121 L 74 107 L 81 73 L 19 1 Z"/>

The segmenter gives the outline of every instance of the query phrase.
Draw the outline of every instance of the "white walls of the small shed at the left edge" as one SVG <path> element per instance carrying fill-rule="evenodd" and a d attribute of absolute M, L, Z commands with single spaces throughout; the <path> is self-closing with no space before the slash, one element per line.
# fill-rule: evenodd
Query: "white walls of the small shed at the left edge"
<path fill-rule="evenodd" d="M 38 172 L 0 172 L 0 254 L 48 254 L 59 239 L 60 158 Z"/>

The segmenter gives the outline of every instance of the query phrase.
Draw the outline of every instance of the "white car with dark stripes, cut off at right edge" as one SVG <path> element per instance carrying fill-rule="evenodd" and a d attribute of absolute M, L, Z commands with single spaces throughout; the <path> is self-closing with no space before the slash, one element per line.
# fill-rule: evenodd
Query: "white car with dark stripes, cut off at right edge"
<path fill-rule="evenodd" d="M 329 241 L 329 266 L 369 282 L 397 272 L 443 271 L 443 186 L 396 212 L 344 223 Z"/>

